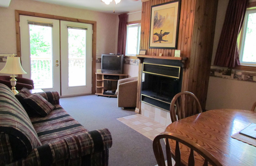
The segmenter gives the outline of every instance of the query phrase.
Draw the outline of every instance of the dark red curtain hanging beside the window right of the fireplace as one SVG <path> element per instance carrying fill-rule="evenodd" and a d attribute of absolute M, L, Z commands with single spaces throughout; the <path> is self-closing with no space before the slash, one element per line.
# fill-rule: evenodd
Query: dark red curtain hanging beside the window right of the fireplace
<path fill-rule="evenodd" d="M 229 0 L 214 65 L 222 67 L 236 67 L 240 65 L 237 37 L 244 22 L 248 1 Z"/>

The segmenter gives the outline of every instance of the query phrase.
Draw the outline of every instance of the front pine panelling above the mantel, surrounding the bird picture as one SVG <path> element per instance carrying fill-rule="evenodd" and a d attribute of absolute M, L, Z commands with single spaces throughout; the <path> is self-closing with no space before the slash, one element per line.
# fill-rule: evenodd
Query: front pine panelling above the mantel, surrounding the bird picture
<path fill-rule="evenodd" d="M 147 55 L 174 57 L 174 49 L 149 49 L 149 33 L 150 33 L 150 20 L 151 20 L 151 6 L 156 4 L 163 4 L 173 0 L 149 0 L 142 3 L 141 12 L 141 36 L 140 36 L 140 49 L 146 49 Z M 194 4 L 195 0 L 182 0 L 180 9 L 180 23 L 178 34 L 178 49 L 181 51 L 183 57 L 189 57 L 190 45 L 188 40 L 191 40 L 193 24 L 193 11 L 191 12 L 191 4 Z M 192 17 L 191 17 L 192 15 Z"/>

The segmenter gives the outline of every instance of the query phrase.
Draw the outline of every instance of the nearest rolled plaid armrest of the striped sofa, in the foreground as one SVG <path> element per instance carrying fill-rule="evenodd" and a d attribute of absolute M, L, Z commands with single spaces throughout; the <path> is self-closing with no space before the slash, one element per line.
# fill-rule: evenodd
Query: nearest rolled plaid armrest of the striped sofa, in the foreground
<path fill-rule="evenodd" d="M 96 163 L 96 165 L 108 165 L 108 163 L 105 163 L 108 160 L 105 162 L 99 160 L 99 156 L 101 156 L 99 153 L 105 154 L 105 151 L 108 152 L 111 146 L 112 137 L 108 129 L 94 130 L 37 147 L 26 158 L 10 165 L 18 166 L 21 164 L 25 166 L 33 164 L 46 166 L 83 157 L 90 160 L 87 162 Z"/>

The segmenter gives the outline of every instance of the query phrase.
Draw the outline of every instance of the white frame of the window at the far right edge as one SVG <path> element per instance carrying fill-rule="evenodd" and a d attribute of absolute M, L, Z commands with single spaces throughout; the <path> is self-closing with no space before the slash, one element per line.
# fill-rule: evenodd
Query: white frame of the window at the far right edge
<path fill-rule="evenodd" d="M 243 53 L 244 53 L 244 42 L 245 42 L 245 36 L 246 36 L 246 29 L 248 24 L 248 15 L 251 13 L 256 13 L 256 9 L 247 10 L 244 16 L 244 25 L 242 29 L 242 43 L 241 43 L 241 49 L 239 54 L 239 60 L 241 65 L 249 65 L 249 66 L 256 66 L 256 62 L 243 62 Z"/>

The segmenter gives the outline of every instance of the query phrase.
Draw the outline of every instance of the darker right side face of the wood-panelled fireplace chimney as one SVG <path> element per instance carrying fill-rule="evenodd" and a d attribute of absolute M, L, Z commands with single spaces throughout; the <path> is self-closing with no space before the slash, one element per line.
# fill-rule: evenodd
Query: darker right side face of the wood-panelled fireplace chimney
<path fill-rule="evenodd" d="M 203 109 L 209 83 L 217 6 L 218 1 L 215 0 L 196 0 L 187 89 L 197 96 Z"/>

